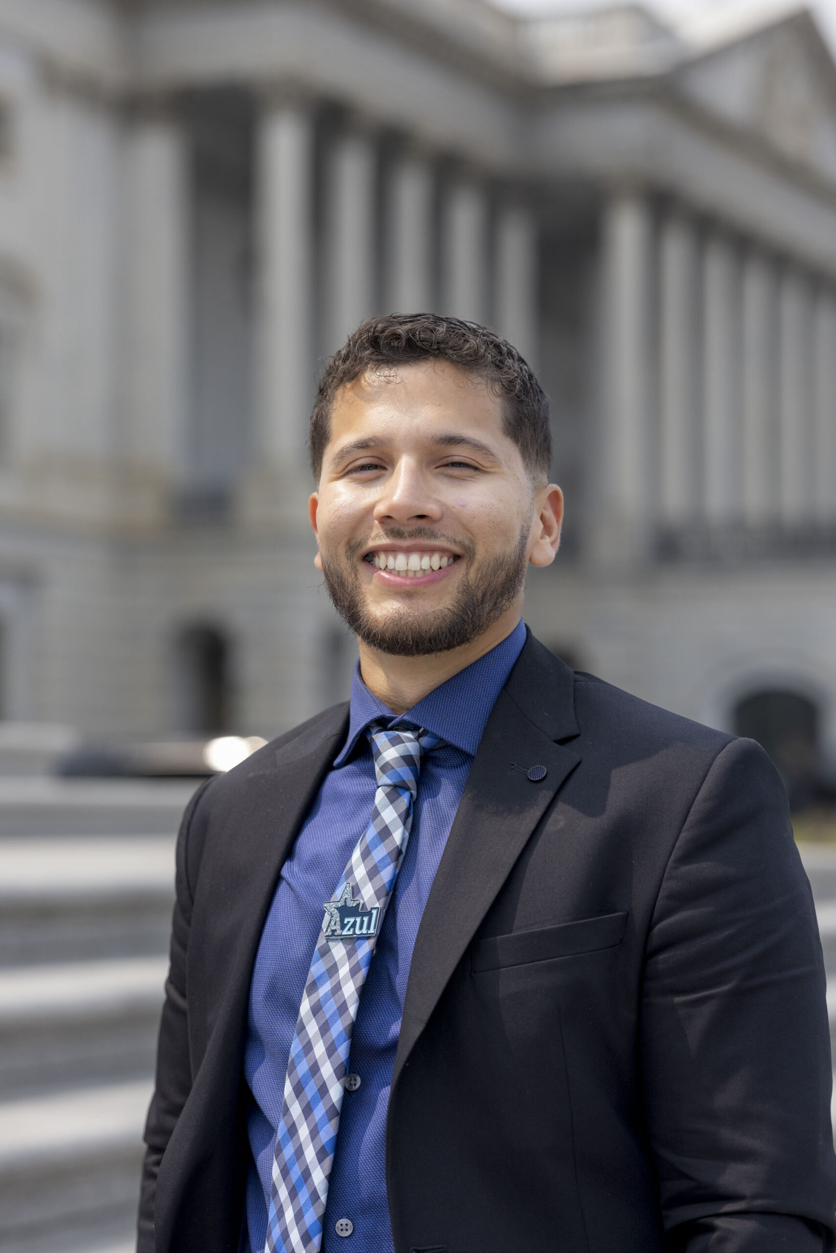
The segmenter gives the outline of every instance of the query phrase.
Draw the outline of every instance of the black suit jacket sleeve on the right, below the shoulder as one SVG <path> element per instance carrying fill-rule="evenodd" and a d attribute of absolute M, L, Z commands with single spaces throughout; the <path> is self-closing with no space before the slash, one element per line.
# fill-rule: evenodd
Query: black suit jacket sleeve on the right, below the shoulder
<path fill-rule="evenodd" d="M 666 868 L 640 1048 L 672 1253 L 833 1249 L 821 944 L 783 788 L 752 741 L 718 754 Z"/>

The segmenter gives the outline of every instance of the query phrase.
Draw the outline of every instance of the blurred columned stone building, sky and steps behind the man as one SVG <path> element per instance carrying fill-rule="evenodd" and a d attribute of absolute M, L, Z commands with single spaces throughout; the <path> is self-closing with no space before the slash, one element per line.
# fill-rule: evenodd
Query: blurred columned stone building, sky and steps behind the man
<path fill-rule="evenodd" d="M 371 313 L 539 371 L 528 621 L 766 747 L 836 959 L 835 49 L 836 0 L 0 0 L 1 1249 L 132 1247 L 178 814 L 348 690 L 305 441 Z"/>

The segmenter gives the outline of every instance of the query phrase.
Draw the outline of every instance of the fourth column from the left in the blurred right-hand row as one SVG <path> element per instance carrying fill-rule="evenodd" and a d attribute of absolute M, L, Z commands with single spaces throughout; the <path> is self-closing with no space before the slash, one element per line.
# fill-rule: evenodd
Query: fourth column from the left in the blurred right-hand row
<path fill-rule="evenodd" d="M 775 267 L 756 247 L 743 259 L 743 519 L 762 528 L 778 512 Z"/>

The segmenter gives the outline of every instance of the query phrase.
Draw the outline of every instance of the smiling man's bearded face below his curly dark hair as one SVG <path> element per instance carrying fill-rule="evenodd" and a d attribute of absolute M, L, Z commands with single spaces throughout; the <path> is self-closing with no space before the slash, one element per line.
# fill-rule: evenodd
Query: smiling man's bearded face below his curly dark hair
<path fill-rule="evenodd" d="M 481 380 L 439 361 L 367 371 L 335 400 L 311 496 L 317 566 L 368 647 L 457 648 L 521 600 L 529 559 L 548 564 L 544 491 Z"/>

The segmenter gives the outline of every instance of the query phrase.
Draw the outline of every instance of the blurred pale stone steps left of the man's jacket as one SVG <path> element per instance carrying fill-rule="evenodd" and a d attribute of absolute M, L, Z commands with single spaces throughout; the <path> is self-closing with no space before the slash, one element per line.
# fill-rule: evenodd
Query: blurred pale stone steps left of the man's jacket
<path fill-rule="evenodd" d="M 194 784 L 0 777 L 0 1249 L 129 1253 Z"/>

